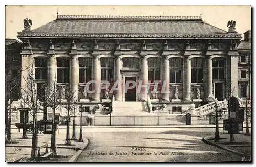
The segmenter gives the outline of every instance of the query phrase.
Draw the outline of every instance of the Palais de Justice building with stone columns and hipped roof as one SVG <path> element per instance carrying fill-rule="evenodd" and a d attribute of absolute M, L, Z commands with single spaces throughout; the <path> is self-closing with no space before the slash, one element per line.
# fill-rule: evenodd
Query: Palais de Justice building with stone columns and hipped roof
<path fill-rule="evenodd" d="M 250 39 L 250 31 L 245 36 Z M 26 24 L 18 38 L 23 41 L 22 67 L 34 62 L 37 90 L 44 83 L 52 86 L 56 74 L 60 92 L 73 90 L 79 104 L 90 110 L 112 101 L 112 95 L 121 102 L 148 101 L 149 96 L 152 104 L 166 104 L 168 110 L 204 105 L 212 97 L 223 101 L 231 93 L 250 96 L 250 73 L 247 67 L 243 70 L 250 49 L 241 46 L 239 56 L 242 37 L 235 23 L 225 31 L 198 16 L 57 15 L 33 30 Z M 22 76 L 27 76 L 26 71 Z M 240 76 L 245 78 L 240 81 Z M 109 100 L 104 90 L 84 97 L 90 80 L 109 81 L 109 90 L 115 81 L 125 85 L 127 80 L 142 80 L 150 90 L 125 93 L 122 86 L 122 91 L 109 94 Z M 167 81 L 168 93 L 152 91 L 156 80 L 161 81 L 159 90 Z"/>

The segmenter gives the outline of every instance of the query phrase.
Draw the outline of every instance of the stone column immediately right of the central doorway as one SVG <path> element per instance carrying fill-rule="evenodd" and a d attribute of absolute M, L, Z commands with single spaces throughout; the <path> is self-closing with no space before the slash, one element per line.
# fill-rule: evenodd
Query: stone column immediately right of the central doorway
<path fill-rule="evenodd" d="M 147 85 L 148 82 L 148 65 L 147 65 L 147 57 L 144 56 L 141 59 L 141 80 L 142 85 Z M 141 87 L 141 95 L 140 95 L 141 101 L 147 100 L 147 88 Z"/>

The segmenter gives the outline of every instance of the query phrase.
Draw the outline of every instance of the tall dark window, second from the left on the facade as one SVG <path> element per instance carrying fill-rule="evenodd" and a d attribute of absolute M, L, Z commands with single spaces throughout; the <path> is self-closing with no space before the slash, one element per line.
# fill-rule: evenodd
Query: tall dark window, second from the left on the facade
<path fill-rule="evenodd" d="M 57 58 L 57 83 L 69 83 L 68 58 Z"/>

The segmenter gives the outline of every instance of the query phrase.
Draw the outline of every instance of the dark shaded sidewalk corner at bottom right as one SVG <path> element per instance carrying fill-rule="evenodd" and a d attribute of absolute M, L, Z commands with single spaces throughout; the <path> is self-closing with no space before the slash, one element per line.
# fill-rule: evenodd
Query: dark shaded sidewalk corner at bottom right
<path fill-rule="evenodd" d="M 251 132 L 250 132 L 251 133 Z M 234 154 L 241 155 L 244 160 L 249 160 L 251 157 L 251 136 L 244 134 L 234 134 L 234 141 L 230 143 L 230 134 L 220 134 L 219 142 L 214 142 L 215 136 L 205 137 L 203 142 L 209 145 L 219 147 L 221 149 L 230 151 Z"/>

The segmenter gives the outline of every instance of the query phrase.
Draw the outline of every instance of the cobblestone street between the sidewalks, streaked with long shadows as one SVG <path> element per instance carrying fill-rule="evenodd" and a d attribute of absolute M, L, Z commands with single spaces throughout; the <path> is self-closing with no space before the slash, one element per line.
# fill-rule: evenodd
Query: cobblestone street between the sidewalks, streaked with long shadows
<path fill-rule="evenodd" d="M 90 143 L 79 156 L 78 162 L 242 160 L 242 156 L 201 141 L 205 136 L 214 135 L 215 128 L 90 128 L 84 131 Z"/>

